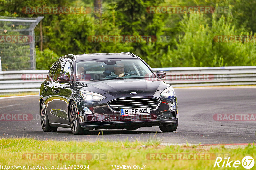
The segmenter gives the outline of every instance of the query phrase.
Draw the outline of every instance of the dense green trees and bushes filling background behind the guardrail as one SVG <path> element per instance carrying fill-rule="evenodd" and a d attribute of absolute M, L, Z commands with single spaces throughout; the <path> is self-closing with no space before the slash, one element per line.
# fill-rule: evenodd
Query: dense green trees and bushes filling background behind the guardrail
<path fill-rule="evenodd" d="M 228 12 L 206 14 L 148 13 L 149 6 L 228 7 Z M 36 42 L 36 67 L 48 69 L 69 53 L 118 53 L 130 51 L 151 67 L 217 67 L 256 65 L 256 43 L 216 42 L 217 35 L 255 35 L 251 0 L 103 0 L 102 14 L 25 14 L 23 7 L 86 6 L 89 0 L 0 0 L 0 15 L 44 16 L 43 43 Z M 99 18 L 95 19 L 94 15 Z M 40 25 L 35 34 L 40 35 Z M 152 42 L 90 42 L 94 35 L 153 35 Z"/>

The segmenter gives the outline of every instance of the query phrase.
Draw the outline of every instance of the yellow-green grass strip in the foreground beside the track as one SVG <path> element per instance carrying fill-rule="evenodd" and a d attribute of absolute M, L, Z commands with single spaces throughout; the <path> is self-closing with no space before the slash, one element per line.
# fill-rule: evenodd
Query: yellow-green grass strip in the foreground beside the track
<path fill-rule="evenodd" d="M 77 136 L 79 139 L 79 136 Z M 0 165 L 19 166 L 58 166 L 89 165 L 91 170 L 111 169 L 111 165 L 146 165 L 145 169 L 215 169 L 213 160 L 148 160 L 148 153 L 228 153 L 231 160 L 242 160 L 244 156 L 256 158 L 256 147 L 249 145 L 244 149 L 225 149 L 224 147 L 202 149 L 197 146 L 159 146 L 159 140 L 147 142 L 127 141 L 41 141 L 32 138 L 0 138 Z M 144 145 L 144 146 L 143 146 Z M 26 153 L 102 153 L 106 160 L 24 160 Z M 221 164 L 222 165 L 222 164 Z M 255 165 L 256 166 L 256 165 Z M 254 166 L 254 167 L 255 167 Z M 109 167 L 109 168 L 108 168 Z M 143 167 L 143 166 L 142 166 Z M 19 168 L 18 168 L 19 169 Z M 64 168 L 65 169 L 65 168 Z M 74 169 L 74 167 L 73 167 Z M 112 168 L 114 169 L 114 168 Z M 133 169 L 133 167 L 131 168 Z M 218 169 L 218 168 L 216 168 Z M 225 168 L 220 168 L 225 169 Z M 238 168 L 244 169 L 242 165 Z M 253 168 L 252 168 L 253 169 Z"/>

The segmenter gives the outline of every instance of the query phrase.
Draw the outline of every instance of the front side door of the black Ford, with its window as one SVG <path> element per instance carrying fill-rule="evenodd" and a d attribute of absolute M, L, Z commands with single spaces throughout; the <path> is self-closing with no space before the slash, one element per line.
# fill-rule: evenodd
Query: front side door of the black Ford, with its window
<path fill-rule="evenodd" d="M 69 61 L 65 61 L 62 66 L 60 76 L 68 75 L 69 79 L 71 74 L 71 65 Z M 56 104 L 56 116 L 58 116 L 58 123 L 69 124 L 68 121 L 68 96 L 71 94 L 70 84 L 67 83 L 56 83 L 54 87 L 55 93 L 55 104 Z"/>

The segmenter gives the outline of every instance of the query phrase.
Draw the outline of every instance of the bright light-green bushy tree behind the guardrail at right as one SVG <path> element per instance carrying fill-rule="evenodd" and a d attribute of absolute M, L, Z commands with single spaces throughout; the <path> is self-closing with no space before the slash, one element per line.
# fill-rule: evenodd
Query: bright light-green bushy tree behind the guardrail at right
<path fill-rule="evenodd" d="M 216 66 L 246 66 L 256 64 L 255 43 L 215 42 L 217 35 L 249 35 L 241 32 L 222 16 L 217 20 L 212 17 L 212 27 L 207 24 L 203 14 L 185 16 L 181 21 L 184 35 L 176 41 L 176 49 L 163 56 L 168 59 L 164 67 L 216 67 Z"/>

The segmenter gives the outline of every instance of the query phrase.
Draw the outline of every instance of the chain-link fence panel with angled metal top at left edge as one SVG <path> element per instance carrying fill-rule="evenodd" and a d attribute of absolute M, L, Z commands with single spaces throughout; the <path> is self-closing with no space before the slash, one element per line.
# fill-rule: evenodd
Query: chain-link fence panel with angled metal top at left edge
<path fill-rule="evenodd" d="M 0 16 L 2 71 L 36 69 L 34 29 L 41 19 Z"/>

